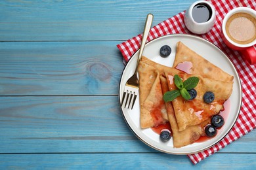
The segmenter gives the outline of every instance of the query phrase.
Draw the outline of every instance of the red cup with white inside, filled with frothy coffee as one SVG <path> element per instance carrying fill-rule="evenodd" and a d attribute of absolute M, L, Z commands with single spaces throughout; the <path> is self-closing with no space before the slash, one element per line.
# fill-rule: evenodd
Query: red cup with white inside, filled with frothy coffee
<path fill-rule="evenodd" d="M 221 37 L 251 65 L 256 64 L 256 11 L 248 7 L 230 10 L 224 16 Z"/>

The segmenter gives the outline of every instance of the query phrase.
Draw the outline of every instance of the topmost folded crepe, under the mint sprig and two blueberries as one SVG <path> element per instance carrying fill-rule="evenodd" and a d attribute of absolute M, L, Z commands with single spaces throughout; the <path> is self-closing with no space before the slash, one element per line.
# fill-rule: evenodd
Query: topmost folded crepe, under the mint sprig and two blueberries
<path fill-rule="evenodd" d="M 165 73 L 169 90 L 176 90 L 174 83 L 174 74 Z M 179 126 L 179 131 L 201 124 L 211 116 L 218 114 L 223 109 L 223 103 L 230 97 L 232 93 L 232 83 L 205 78 L 200 75 L 188 75 L 186 73 L 179 74 L 182 80 L 186 80 L 191 76 L 199 78 L 198 85 L 194 88 L 197 92 L 196 98 L 186 100 L 181 95 L 172 101 L 175 118 Z M 215 99 L 212 103 L 205 103 L 203 95 L 205 92 L 213 92 Z"/>

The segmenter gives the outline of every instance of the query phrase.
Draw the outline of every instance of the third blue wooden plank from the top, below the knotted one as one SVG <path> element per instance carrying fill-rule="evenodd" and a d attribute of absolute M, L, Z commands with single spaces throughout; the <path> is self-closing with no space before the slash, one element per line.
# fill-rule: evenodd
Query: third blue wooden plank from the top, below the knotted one
<path fill-rule="evenodd" d="M 117 103 L 117 96 L 0 97 L 0 153 L 158 152 L 135 137 Z M 256 153 L 255 137 L 221 152 Z"/>

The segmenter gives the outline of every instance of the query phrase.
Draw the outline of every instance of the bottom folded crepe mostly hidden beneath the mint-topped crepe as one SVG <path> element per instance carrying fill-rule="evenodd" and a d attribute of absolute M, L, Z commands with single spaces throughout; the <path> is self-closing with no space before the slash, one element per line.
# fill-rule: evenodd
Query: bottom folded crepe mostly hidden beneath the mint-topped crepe
<path fill-rule="evenodd" d="M 169 91 L 167 78 L 165 77 L 165 75 L 161 75 L 160 80 L 161 80 L 161 87 L 162 87 L 163 93 Z M 183 131 L 179 131 L 179 126 L 176 121 L 175 112 L 173 110 L 172 103 L 166 102 L 165 107 L 167 109 L 169 123 L 171 125 L 174 148 L 181 148 L 182 146 L 192 144 L 195 141 L 197 141 L 201 136 L 205 135 L 204 127 L 210 123 L 211 118 L 208 118 L 207 120 L 203 121 L 201 124 L 190 126 L 184 129 Z"/>

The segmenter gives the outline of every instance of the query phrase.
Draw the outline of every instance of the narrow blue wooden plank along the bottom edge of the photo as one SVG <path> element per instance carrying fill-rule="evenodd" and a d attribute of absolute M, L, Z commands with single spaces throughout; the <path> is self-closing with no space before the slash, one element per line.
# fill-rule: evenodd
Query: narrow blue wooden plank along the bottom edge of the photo
<path fill-rule="evenodd" d="M 1 169 L 253 169 L 256 154 L 214 154 L 192 165 L 169 154 L 0 154 Z M 111 161 L 110 161 L 111 160 Z"/>

